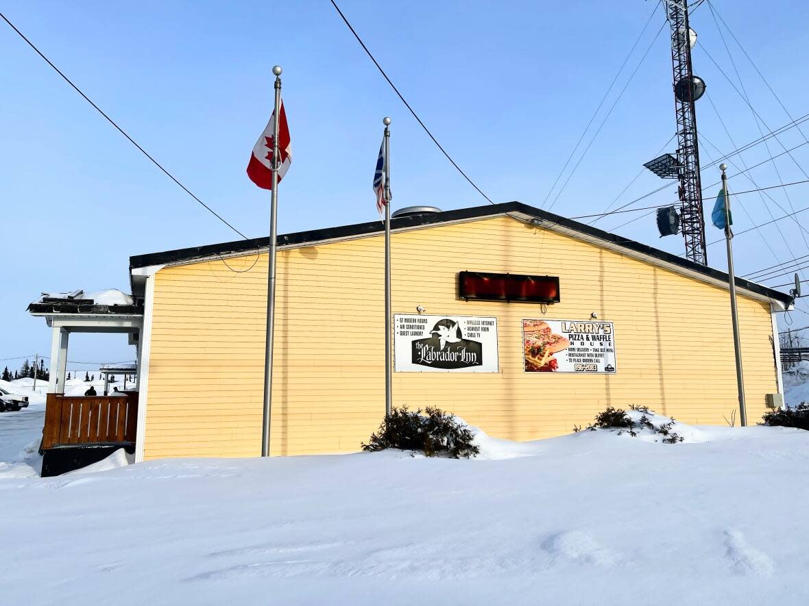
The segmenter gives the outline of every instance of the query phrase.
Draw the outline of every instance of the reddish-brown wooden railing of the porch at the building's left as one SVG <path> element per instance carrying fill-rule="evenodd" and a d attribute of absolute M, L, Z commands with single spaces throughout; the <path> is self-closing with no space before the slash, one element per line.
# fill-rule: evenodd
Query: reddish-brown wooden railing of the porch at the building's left
<path fill-rule="evenodd" d="M 114 444 L 135 441 L 138 393 L 126 396 L 63 396 L 49 393 L 42 448 L 61 444 Z"/>

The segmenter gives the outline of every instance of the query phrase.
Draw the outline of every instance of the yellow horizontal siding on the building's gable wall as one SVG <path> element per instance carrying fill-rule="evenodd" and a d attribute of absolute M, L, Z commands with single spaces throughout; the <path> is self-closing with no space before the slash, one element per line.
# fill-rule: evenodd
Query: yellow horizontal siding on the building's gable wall
<path fill-rule="evenodd" d="M 254 264 L 255 262 L 255 264 Z M 267 256 L 155 276 L 146 458 L 260 451 Z M 251 268 L 252 266 L 252 268 Z M 559 276 L 546 318 L 615 322 L 616 375 L 525 373 L 522 318 L 539 305 L 455 298 L 458 271 Z M 508 217 L 392 236 L 394 313 L 498 318 L 500 372 L 395 373 L 396 405 L 436 405 L 489 434 L 557 436 L 605 406 L 646 404 L 686 423 L 737 406 L 725 289 Z M 748 419 L 776 377 L 769 306 L 739 297 Z M 352 452 L 384 409 L 383 238 L 282 250 L 277 264 L 275 454 Z"/>

